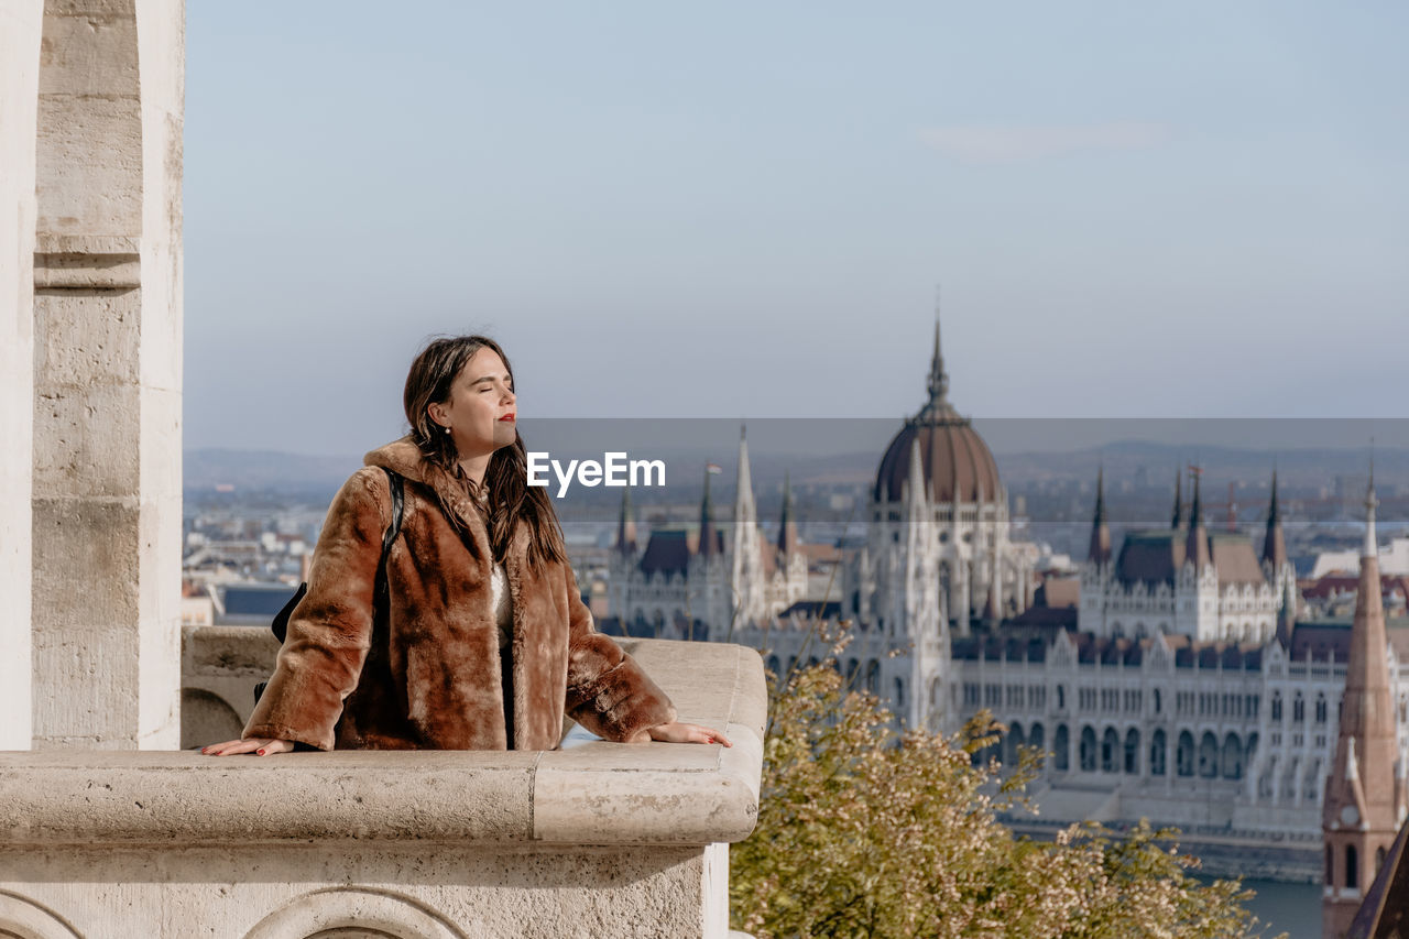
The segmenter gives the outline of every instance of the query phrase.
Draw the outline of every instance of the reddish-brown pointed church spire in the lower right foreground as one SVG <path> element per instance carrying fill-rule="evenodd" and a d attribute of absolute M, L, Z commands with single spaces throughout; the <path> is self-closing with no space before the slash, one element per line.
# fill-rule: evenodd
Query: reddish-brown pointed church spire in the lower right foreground
<path fill-rule="evenodd" d="M 1384 864 L 1403 822 L 1403 788 L 1396 785 L 1395 778 L 1398 757 L 1371 465 L 1365 492 L 1365 547 L 1360 557 L 1340 733 L 1322 804 L 1326 843 L 1322 935 L 1327 939 L 1347 935 L 1364 891 Z"/>

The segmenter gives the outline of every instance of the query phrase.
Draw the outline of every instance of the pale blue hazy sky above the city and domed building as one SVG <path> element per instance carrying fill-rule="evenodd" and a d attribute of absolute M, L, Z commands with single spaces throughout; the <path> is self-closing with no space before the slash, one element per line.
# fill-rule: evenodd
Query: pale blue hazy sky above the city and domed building
<path fill-rule="evenodd" d="M 186 446 L 524 417 L 1405 415 L 1409 6 L 187 4 Z"/>

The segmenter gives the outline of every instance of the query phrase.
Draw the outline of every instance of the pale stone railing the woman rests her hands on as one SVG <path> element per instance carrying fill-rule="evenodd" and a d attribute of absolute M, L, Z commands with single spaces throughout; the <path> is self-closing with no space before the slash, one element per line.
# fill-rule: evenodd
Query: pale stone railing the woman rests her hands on
<path fill-rule="evenodd" d="M 758 654 L 623 643 L 719 744 L 0 753 L 0 935 L 724 936 L 758 814 Z"/>

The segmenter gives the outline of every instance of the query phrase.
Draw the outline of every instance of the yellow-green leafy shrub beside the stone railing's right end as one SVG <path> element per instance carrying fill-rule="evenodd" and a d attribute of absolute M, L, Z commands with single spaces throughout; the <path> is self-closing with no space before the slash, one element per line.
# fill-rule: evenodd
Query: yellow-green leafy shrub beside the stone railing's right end
<path fill-rule="evenodd" d="M 772 936 L 1247 936 L 1237 881 L 1202 884 L 1198 860 L 1141 822 L 1016 837 L 998 815 L 1034 811 L 1016 767 L 981 761 L 1005 728 L 988 712 L 952 737 L 892 729 L 874 695 L 828 664 L 776 680 L 758 828 L 730 853 L 734 928 Z"/>

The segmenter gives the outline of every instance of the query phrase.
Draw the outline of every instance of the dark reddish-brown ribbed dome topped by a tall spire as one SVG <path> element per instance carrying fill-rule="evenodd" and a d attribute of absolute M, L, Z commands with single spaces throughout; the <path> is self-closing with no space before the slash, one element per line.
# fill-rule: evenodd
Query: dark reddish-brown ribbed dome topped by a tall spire
<path fill-rule="evenodd" d="M 905 422 L 876 470 L 876 502 L 899 502 L 910 472 L 910 447 L 920 443 L 927 496 L 931 502 L 996 502 L 1002 484 L 998 462 L 967 417 L 948 402 L 948 375 L 940 357 L 940 326 L 934 324 L 934 360 L 930 364 L 930 400 Z"/>

